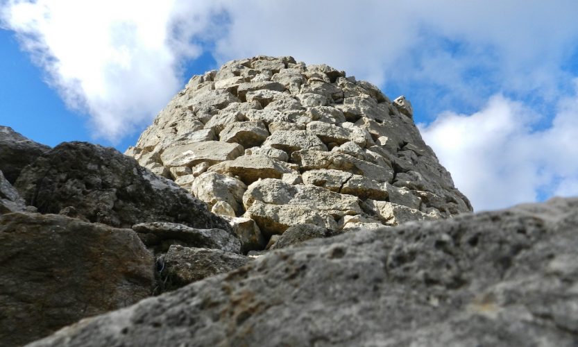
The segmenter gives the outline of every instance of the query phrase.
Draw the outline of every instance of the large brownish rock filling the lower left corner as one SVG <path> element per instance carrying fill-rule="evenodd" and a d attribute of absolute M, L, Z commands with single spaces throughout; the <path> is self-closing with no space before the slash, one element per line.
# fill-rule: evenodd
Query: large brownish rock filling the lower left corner
<path fill-rule="evenodd" d="M 153 257 L 130 229 L 54 214 L 0 216 L 0 341 L 17 346 L 151 295 Z"/>

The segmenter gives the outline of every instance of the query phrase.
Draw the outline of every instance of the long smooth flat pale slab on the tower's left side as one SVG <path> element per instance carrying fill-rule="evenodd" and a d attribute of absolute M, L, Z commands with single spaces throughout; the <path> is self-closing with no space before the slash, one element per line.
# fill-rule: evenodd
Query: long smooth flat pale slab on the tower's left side
<path fill-rule="evenodd" d="M 176 144 L 162 152 L 160 158 L 166 167 L 193 167 L 200 162 L 216 164 L 232 160 L 244 153 L 243 146 L 220 141 Z"/>

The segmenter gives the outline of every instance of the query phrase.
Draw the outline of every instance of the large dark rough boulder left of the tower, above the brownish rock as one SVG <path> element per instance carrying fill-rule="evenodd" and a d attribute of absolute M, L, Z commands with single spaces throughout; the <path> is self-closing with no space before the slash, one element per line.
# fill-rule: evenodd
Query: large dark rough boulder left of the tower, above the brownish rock
<path fill-rule="evenodd" d="M 65 142 L 42 154 L 22 171 L 15 188 L 41 213 L 74 206 L 87 221 L 121 228 L 167 221 L 230 230 L 171 180 L 115 149 L 85 142 Z"/>

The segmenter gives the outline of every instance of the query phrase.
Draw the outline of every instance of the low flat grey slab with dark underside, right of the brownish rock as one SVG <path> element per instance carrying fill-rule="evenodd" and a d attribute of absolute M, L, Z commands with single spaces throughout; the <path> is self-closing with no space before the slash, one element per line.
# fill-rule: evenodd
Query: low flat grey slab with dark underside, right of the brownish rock
<path fill-rule="evenodd" d="M 133 226 L 142 242 L 155 253 L 166 253 L 173 244 L 205 247 L 239 253 L 241 243 L 232 232 L 223 229 L 197 229 L 178 223 L 139 223 Z"/>

